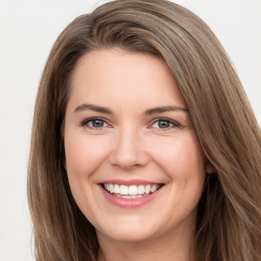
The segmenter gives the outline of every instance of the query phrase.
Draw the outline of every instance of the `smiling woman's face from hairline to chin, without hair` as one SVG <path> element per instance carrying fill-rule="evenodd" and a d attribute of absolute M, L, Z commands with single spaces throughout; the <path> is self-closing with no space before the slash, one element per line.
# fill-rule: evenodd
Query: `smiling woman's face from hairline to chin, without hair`
<path fill-rule="evenodd" d="M 120 49 L 83 56 L 66 110 L 65 155 L 72 195 L 98 238 L 194 231 L 206 161 L 160 59 Z"/>

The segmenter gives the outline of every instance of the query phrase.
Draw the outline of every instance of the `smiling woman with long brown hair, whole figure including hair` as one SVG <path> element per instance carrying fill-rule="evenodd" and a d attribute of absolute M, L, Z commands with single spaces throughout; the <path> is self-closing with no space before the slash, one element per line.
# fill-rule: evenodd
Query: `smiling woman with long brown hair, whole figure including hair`
<path fill-rule="evenodd" d="M 221 44 L 167 1 L 76 18 L 51 50 L 28 178 L 37 260 L 260 260 L 261 134 Z"/>

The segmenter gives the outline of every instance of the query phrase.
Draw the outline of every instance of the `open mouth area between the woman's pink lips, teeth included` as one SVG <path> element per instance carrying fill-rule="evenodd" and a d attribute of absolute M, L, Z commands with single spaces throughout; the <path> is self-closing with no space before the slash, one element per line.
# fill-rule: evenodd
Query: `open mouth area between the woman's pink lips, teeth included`
<path fill-rule="evenodd" d="M 101 187 L 108 193 L 120 197 L 120 198 L 142 198 L 143 196 L 148 196 L 155 191 L 159 190 L 164 184 L 152 184 L 152 185 L 118 185 L 118 184 L 101 184 Z"/>

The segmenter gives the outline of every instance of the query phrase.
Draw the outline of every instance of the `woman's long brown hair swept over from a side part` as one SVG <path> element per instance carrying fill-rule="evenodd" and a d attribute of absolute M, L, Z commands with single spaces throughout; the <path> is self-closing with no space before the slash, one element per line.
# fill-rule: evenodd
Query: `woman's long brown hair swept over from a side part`
<path fill-rule="evenodd" d="M 63 166 L 63 121 L 79 59 L 115 46 L 166 61 L 217 170 L 207 174 L 199 202 L 197 261 L 261 260 L 260 128 L 213 32 L 165 0 L 102 5 L 72 21 L 51 49 L 38 89 L 28 172 L 36 260 L 97 259 L 95 229 L 77 207 Z"/>

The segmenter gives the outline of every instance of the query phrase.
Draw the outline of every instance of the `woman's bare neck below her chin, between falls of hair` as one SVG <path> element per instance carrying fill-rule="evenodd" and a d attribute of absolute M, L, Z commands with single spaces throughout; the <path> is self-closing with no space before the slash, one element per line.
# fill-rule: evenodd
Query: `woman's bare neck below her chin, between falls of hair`
<path fill-rule="evenodd" d="M 184 227 L 183 227 L 184 228 Z M 193 261 L 194 232 L 182 229 L 169 231 L 164 237 L 138 242 L 115 240 L 100 234 L 98 261 Z"/>

